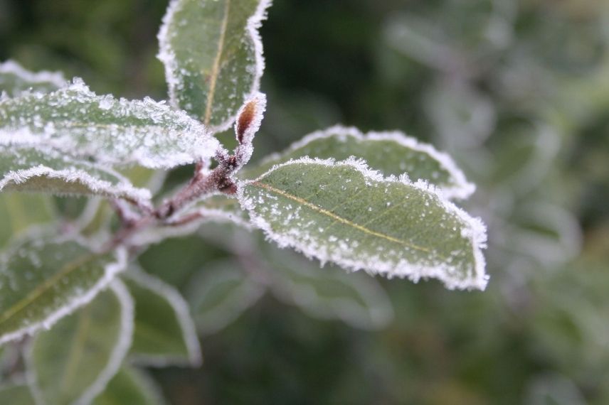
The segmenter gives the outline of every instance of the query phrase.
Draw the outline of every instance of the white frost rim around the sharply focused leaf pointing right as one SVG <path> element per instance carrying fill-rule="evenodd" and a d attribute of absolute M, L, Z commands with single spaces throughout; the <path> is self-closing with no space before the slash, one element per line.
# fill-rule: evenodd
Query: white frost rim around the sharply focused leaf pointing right
<path fill-rule="evenodd" d="M 262 216 L 258 215 L 255 210 L 255 202 L 251 199 L 245 198 L 243 195 L 245 186 L 248 183 L 253 183 L 256 180 L 264 178 L 265 175 L 268 175 L 272 171 L 277 170 L 283 166 L 290 166 L 295 163 L 305 163 L 305 164 L 317 164 L 322 166 L 327 166 L 329 168 L 339 167 L 339 166 L 349 166 L 351 168 L 356 169 L 364 178 L 377 181 L 377 182 L 386 182 L 386 183 L 402 183 L 413 188 L 417 188 L 419 190 L 425 191 L 425 193 L 429 193 L 431 195 L 435 195 L 438 202 L 443 206 L 443 208 L 454 215 L 456 215 L 465 225 L 469 226 L 469 229 L 462 229 L 465 231 L 467 229 L 467 234 L 464 234 L 464 237 L 470 239 L 470 243 L 472 244 L 473 254 L 474 254 L 474 275 L 472 279 L 465 280 L 455 280 L 447 275 L 447 271 L 443 269 L 443 266 L 422 266 L 422 265 L 413 265 L 406 261 L 401 261 L 397 266 L 390 263 L 383 263 L 382 257 L 376 257 L 375 267 L 366 266 L 361 261 L 357 261 L 348 257 L 349 252 L 346 254 L 341 254 L 341 252 L 328 252 L 324 246 L 321 244 L 317 244 L 315 242 L 307 244 L 301 244 L 296 237 L 293 237 L 290 234 L 277 234 L 272 230 L 270 223 L 265 220 Z M 254 227 L 262 229 L 265 232 L 267 239 L 272 240 L 277 243 L 280 248 L 292 247 L 297 252 L 301 252 L 305 254 L 309 259 L 318 259 L 322 265 L 327 261 L 334 262 L 344 269 L 348 269 L 351 271 L 357 271 L 360 269 L 364 269 L 369 274 L 381 274 L 383 276 L 387 276 L 391 279 L 393 276 L 398 277 L 408 277 L 413 282 L 418 282 L 419 279 L 439 279 L 443 281 L 446 288 L 452 290 L 455 288 L 459 289 L 479 289 L 484 291 L 486 288 L 489 276 L 484 271 L 486 267 L 486 260 L 484 259 L 484 255 L 482 254 L 482 249 L 487 248 L 487 229 L 482 220 L 478 217 L 472 217 L 467 212 L 462 210 L 460 207 L 457 207 L 453 202 L 448 200 L 448 198 L 443 195 L 443 193 L 438 190 L 433 185 L 430 185 L 424 180 L 418 180 L 413 183 L 407 175 L 401 175 L 399 178 L 395 176 L 383 177 L 381 173 L 378 171 L 372 170 L 366 165 L 361 159 L 357 158 L 349 158 L 346 161 L 334 161 L 334 159 L 319 159 L 319 158 L 298 158 L 292 159 L 285 163 L 281 163 L 270 168 L 269 171 L 263 173 L 256 180 L 241 180 L 238 183 L 238 191 L 237 198 L 243 207 L 244 210 L 247 210 L 251 217 L 251 222 Z"/>

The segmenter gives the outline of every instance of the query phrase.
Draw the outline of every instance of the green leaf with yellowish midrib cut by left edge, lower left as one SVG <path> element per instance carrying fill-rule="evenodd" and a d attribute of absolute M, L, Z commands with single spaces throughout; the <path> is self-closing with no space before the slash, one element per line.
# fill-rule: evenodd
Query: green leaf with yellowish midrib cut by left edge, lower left
<path fill-rule="evenodd" d="M 0 343 L 50 328 L 125 269 L 127 253 L 96 254 L 57 232 L 30 232 L 0 256 Z"/>

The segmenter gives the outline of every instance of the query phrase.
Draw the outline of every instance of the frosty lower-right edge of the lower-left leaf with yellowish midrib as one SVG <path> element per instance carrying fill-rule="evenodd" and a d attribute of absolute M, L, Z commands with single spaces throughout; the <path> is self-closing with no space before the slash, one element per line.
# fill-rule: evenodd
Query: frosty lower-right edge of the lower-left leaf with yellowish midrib
<path fill-rule="evenodd" d="M 87 247 L 88 249 L 90 249 L 90 247 L 88 247 L 83 242 L 83 240 L 73 240 L 74 242 L 82 244 L 83 247 Z M 116 261 L 109 263 L 105 266 L 105 274 L 100 278 L 100 280 L 97 281 L 94 286 L 89 288 L 88 291 L 85 291 L 83 295 L 73 298 L 70 303 L 51 313 L 51 315 L 48 315 L 44 320 L 33 323 L 32 325 L 28 325 L 24 328 L 15 330 L 14 332 L 1 335 L 0 345 L 4 344 L 5 342 L 21 338 L 24 335 L 33 335 L 41 329 L 50 329 L 53 325 L 55 325 L 55 323 L 57 323 L 58 320 L 60 320 L 64 316 L 70 315 L 70 313 L 73 313 L 81 306 L 90 303 L 90 301 L 92 301 L 92 299 L 97 296 L 97 293 L 102 291 L 102 289 L 104 289 L 108 284 L 110 284 L 113 279 L 115 279 L 115 276 L 117 274 L 127 268 L 127 250 L 125 248 L 119 247 L 115 249 L 115 257 Z"/>

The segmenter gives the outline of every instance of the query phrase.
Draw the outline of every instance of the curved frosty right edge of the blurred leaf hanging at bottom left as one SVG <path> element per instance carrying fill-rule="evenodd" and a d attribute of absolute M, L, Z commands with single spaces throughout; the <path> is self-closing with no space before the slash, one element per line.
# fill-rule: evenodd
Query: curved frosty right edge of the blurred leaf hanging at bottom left
<path fill-rule="evenodd" d="M 103 392 L 112 377 L 114 377 L 120 369 L 123 360 L 125 360 L 125 357 L 129 352 L 129 347 L 131 347 L 132 344 L 135 318 L 133 298 L 131 298 L 125 284 L 122 284 L 120 280 L 115 279 L 112 281 L 110 289 L 117 296 L 121 308 L 120 334 L 118 341 L 110 354 L 106 367 L 100 372 L 97 380 L 83 392 L 83 395 L 74 401 L 74 405 L 89 405 L 97 395 Z"/>

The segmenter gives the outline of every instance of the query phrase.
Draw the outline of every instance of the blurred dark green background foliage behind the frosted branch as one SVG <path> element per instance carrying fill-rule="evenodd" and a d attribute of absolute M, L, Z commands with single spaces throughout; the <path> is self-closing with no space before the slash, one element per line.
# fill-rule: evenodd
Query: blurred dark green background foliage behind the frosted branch
<path fill-rule="evenodd" d="M 164 99 L 165 9 L 0 0 L 0 60 Z M 433 143 L 478 185 L 463 205 L 489 227 L 491 280 L 460 292 L 379 279 L 394 318 L 378 330 L 266 294 L 203 333 L 201 369 L 153 371 L 166 398 L 609 404 L 609 2 L 276 0 L 261 33 L 270 104 L 254 158 L 337 123 Z M 238 267 L 239 240 L 267 275 L 285 271 L 257 232 L 203 228 L 155 244 L 140 264 L 188 294 L 210 263 Z"/>

